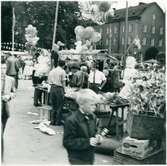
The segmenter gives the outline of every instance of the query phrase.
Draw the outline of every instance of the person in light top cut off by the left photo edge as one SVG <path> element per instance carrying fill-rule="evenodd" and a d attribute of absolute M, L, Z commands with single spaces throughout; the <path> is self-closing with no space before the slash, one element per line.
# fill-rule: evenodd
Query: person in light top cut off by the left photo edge
<path fill-rule="evenodd" d="M 13 92 L 13 93 L 11 93 Z M 9 101 L 14 97 L 15 80 L 6 75 L 5 61 L 1 61 L 1 159 L 3 162 L 4 140 L 3 135 L 9 118 Z"/>

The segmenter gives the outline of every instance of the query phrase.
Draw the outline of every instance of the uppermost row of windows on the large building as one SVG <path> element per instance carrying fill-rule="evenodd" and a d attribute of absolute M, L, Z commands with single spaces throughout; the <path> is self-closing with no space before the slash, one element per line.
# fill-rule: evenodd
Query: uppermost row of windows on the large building
<path fill-rule="evenodd" d="M 133 24 L 129 24 L 129 33 L 133 32 Z M 163 27 L 160 27 L 159 29 L 159 34 L 160 35 L 163 35 Z M 102 29 L 100 29 L 100 32 L 102 32 Z M 125 32 L 125 25 L 122 26 L 122 32 Z M 148 32 L 148 26 L 147 25 L 144 25 L 143 27 L 143 32 L 146 33 Z M 107 27 L 107 34 L 110 34 L 112 33 L 112 29 L 111 29 L 111 26 Z M 118 28 L 117 26 L 114 26 L 114 34 L 118 33 Z M 151 33 L 152 34 L 155 34 L 155 26 L 152 26 L 151 28 Z"/>

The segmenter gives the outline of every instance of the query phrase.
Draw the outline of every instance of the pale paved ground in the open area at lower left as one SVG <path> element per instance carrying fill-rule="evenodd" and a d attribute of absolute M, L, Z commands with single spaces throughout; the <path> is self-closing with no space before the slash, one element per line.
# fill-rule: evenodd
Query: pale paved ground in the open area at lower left
<path fill-rule="evenodd" d="M 56 135 L 49 136 L 34 129 L 32 120 L 39 119 L 33 106 L 31 80 L 19 80 L 16 98 L 11 102 L 11 117 L 5 131 L 4 164 L 68 164 L 67 153 L 62 146 L 63 127 L 51 126 Z M 95 164 L 112 164 L 112 157 L 96 154 Z"/>

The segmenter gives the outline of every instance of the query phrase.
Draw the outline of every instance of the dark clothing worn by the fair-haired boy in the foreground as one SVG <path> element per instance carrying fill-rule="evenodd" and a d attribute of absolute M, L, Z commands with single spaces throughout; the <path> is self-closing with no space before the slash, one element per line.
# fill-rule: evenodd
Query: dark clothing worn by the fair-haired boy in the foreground
<path fill-rule="evenodd" d="M 68 152 L 71 164 L 93 164 L 95 149 L 89 139 L 97 132 L 94 114 L 87 119 L 79 110 L 73 112 L 65 121 L 63 145 Z"/>

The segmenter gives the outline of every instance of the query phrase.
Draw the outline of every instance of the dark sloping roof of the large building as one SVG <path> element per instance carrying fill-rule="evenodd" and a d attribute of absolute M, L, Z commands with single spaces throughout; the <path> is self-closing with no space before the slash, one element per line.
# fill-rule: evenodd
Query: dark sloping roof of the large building
<path fill-rule="evenodd" d="M 140 2 L 138 6 L 128 7 L 128 19 L 139 19 L 141 14 L 150 6 L 157 5 L 156 2 L 143 3 Z M 158 5 L 157 5 L 158 6 Z M 118 22 L 125 20 L 126 8 L 115 10 L 114 16 L 109 16 L 107 23 Z"/>

